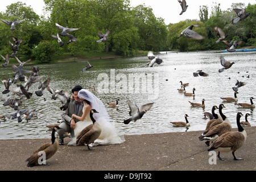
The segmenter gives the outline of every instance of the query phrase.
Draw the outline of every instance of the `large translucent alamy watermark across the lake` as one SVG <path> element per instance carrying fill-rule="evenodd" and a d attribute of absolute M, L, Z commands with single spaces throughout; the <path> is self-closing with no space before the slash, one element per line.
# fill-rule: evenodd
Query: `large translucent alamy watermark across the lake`
<path fill-rule="evenodd" d="M 97 92 L 105 94 L 148 94 L 148 99 L 159 96 L 159 73 L 100 73 Z"/>

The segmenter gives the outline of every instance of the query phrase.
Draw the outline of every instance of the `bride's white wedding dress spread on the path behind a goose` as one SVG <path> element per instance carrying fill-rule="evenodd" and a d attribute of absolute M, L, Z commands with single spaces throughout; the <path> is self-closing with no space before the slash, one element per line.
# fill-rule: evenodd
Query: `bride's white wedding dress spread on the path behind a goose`
<path fill-rule="evenodd" d="M 83 109 L 84 111 L 84 109 Z M 114 122 L 106 121 L 104 117 L 101 117 L 97 121 L 101 125 L 101 135 L 89 146 L 97 145 L 109 145 L 109 144 L 119 144 L 125 142 L 123 136 L 118 136 L 115 131 Z M 72 138 L 71 142 L 68 145 L 76 146 L 76 137 L 79 133 L 88 125 L 91 125 L 93 122 L 90 119 L 90 114 L 87 114 L 84 121 L 79 121 L 76 123 L 75 128 L 75 137 Z"/>

